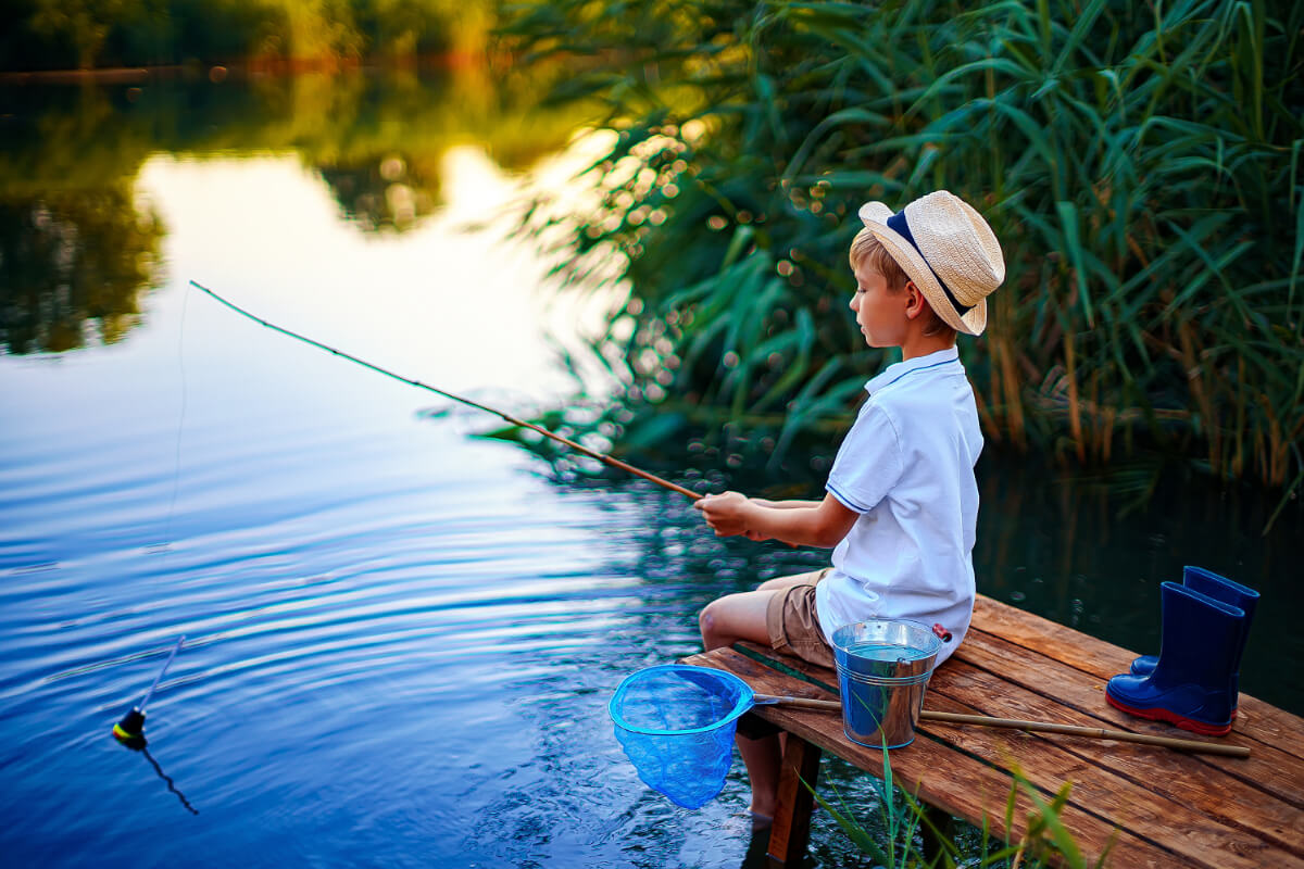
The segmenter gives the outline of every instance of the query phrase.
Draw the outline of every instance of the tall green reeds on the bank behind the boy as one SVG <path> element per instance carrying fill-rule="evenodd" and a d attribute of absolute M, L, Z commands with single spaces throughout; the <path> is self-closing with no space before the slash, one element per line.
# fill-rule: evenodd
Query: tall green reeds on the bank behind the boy
<path fill-rule="evenodd" d="M 1008 266 L 987 334 L 961 339 L 990 440 L 1288 489 L 1301 25 L 1257 0 L 563 0 L 509 31 L 575 59 L 556 96 L 604 100 L 621 132 L 571 275 L 627 263 L 609 337 L 636 414 L 673 404 L 711 436 L 722 410 L 780 455 L 845 420 L 888 361 L 844 309 L 855 208 L 944 188 Z"/>

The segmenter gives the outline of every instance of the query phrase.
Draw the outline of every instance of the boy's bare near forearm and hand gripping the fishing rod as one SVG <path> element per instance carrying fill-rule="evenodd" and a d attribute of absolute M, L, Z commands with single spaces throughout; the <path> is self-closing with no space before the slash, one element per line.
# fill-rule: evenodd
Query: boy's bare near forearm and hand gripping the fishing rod
<path fill-rule="evenodd" d="M 745 534 L 754 541 L 776 539 L 794 546 L 837 546 L 861 517 L 832 495 L 819 502 L 772 502 L 741 492 L 708 495 L 694 507 L 719 537 Z M 792 504 L 792 506 L 786 506 Z"/>

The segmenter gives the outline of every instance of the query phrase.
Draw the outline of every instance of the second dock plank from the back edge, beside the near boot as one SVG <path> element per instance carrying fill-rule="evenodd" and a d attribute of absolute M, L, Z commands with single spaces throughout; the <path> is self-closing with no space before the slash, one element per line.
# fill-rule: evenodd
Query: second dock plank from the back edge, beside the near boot
<path fill-rule="evenodd" d="M 970 629 L 952 661 L 962 661 L 986 670 L 1004 681 L 1107 722 L 1110 727 L 1137 734 L 1167 736 L 1184 734 L 1170 724 L 1133 718 L 1114 709 L 1104 701 L 1104 683 L 1094 676 L 986 631 Z M 938 670 L 934 679 L 949 677 L 948 667 L 949 662 Z M 1253 752 L 1251 757 L 1241 760 L 1192 754 L 1191 758 L 1206 769 L 1221 770 L 1294 806 L 1304 808 L 1304 762 L 1273 745 L 1245 736 L 1240 727 L 1241 724 L 1237 724 L 1230 735 L 1217 739 L 1231 745 L 1251 747 Z"/>

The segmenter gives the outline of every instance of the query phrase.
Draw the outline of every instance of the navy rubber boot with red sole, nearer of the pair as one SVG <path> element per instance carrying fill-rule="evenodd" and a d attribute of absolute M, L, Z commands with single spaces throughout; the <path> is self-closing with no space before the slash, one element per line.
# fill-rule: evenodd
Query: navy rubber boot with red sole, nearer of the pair
<path fill-rule="evenodd" d="M 1245 611 L 1176 582 L 1164 582 L 1159 593 L 1159 662 L 1148 676 L 1114 676 L 1104 697 L 1129 715 L 1222 736 L 1231 731 Z"/>

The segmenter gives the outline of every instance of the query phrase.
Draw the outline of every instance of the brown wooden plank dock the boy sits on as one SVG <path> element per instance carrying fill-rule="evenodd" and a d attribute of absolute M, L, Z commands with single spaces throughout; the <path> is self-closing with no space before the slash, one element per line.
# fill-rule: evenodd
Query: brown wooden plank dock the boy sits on
<path fill-rule="evenodd" d="M 1232 732 L 1221 739 L 1133 718 L 1104 701 L 1106 680 L 1127 672 L 1133 658 L 979 595 L 968 637 L 928 683 L 925 709 L 1224 741 L 1248 747 L 1251 756 L 921 722 L 914 743 L 891 753 L 896 780 L 936 809 L 975 825 L 986 818 L 996 835 L 1017 839 L 1031 809 L 1022 799 L 1005 829 L 1017 763 L 1046 799 L 1073 783 L 1061 818 L 1089 861 L 1108 848 L 1110 866 L 1304 869 L 1304 719 L 1247 694 Z M 758 693 L 827 700 L 837 689 L 835 672 L 762 646 L 717 649 L 685 663 L 729 670 Z M 841 718 L 829 713 L 758 706 L 748 717 L 745 727 L 789 734 L 769 855 L 797 865 L 812 804 L 798 775 L 815 782 L 827 750 L 882 776 L 882 749 L 848 740 Z"/>

